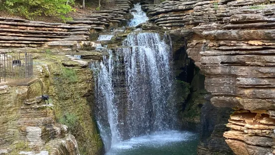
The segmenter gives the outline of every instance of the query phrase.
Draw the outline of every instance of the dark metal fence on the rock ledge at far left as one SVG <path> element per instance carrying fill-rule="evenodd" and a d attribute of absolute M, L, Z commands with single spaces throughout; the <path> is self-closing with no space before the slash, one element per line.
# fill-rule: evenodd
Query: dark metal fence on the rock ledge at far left
<path fill-rule="evenodd" d="M 33 75 L 33 58 L 27 53 L 0 54 L 0 82 L 27 79 Z"/>

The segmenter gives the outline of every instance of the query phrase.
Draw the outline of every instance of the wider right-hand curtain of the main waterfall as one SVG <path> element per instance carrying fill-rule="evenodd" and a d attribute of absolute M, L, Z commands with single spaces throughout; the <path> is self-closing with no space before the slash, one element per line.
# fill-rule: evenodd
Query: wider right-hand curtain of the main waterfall
<path fill-rule="evenodd" d="M 121 48 L 124 56 L 130 137 L 173 128 L 170 46 L 158 33 L 130 33 Z"/>

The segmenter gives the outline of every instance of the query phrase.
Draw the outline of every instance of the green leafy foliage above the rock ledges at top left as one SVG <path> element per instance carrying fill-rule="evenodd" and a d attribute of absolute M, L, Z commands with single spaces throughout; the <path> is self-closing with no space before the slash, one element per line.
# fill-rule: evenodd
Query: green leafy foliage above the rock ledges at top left
<path fill-rule="evenodd" d="M 38 15 L 60 16 L 65 19 L 64 15 L 74 10 L 69 5 L 74 0 L 3 0 L 2 3 L 10 13 L 23 15 L 28 19 Z"/>

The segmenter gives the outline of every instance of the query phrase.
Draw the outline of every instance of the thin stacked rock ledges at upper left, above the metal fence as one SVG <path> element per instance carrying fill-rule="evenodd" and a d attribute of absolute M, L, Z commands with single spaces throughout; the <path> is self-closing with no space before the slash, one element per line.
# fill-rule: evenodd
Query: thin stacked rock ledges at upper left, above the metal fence
<path fill-rule="evenodd" d="M 132 3 L 133 0 L 116 0 L 111 9 L 89 12 L 67 23 L 0 17 L 0 52 L 1 48 L 85 46 L 93 30 L 125 25 L 131 17 L 129 10 Z"/>

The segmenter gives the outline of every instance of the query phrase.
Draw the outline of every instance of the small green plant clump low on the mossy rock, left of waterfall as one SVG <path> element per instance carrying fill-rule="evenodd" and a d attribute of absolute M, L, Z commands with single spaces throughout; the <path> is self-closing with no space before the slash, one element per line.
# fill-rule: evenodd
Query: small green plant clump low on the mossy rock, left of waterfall
<path fill-rule="evenodd" d="M 70 130 L 74 130 L 77 126 L 78 117 L 73 113 L 65 113 L 60 118 L 57 118 L 57 121 L 68 126 Z"/>

